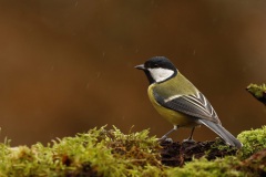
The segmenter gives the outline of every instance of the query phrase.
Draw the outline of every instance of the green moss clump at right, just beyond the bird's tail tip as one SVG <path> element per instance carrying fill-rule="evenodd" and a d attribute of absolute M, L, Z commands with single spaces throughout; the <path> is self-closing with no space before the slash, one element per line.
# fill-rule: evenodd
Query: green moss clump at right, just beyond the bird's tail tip
<path fill-rule="evenodd" d="M 266 148 L 266 126 L 257 129 L 244 131 L 237 138 L 243 143 L 238 156 L 245 159 L 254 153 Z"/>

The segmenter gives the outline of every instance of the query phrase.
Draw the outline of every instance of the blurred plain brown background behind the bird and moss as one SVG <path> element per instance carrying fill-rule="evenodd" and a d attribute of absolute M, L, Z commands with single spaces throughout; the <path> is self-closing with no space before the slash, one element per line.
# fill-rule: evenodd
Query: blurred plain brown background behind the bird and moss
<path fill-rule="evenodd" d="M 245 87 L 266 82 L 266 1 L 0 0 L 0 127 L 12 145 L 105 124 L 172 128 L 134 69 L 165 55 L 237 135 L 265 124 Z M 172 135 L 188 136 L 188 131 Z M 195 139 L 216 137 L 206 127 Z"/>

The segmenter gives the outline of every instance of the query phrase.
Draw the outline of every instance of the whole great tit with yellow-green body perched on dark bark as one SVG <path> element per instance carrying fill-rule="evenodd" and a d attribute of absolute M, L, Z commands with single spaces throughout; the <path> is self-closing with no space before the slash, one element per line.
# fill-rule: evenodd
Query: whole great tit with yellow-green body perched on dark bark
<path fill-rule="evenodd" d="M 154 56 L 135 67 L 143 70 L 147 76 L 147 94 L 155 110 L 174 125 L 161 139 L 165 139 L 180 127 L 188 127 L 192 132 L 185 140 L 193 140 L 195 127 L 203 124 L 221 136 L 226 144 L 242 147 L 242 143 L 222 126 L 207 98 L 168 59 Z"/>

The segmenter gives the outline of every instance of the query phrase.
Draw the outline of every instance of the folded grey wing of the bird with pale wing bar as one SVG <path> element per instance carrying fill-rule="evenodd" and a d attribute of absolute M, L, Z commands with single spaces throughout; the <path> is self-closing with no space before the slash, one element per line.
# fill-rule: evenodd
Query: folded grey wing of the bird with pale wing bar
<path fill-rule="evenodd" d="M 164 107 L 196 118 L 208 119 L 216 124 L 221 124 L 213 106 L 200 92 L 195 95 L 175 95 L 167 98 L 164 98 L 154 92 L 154 96 L 155 100 Z"/>

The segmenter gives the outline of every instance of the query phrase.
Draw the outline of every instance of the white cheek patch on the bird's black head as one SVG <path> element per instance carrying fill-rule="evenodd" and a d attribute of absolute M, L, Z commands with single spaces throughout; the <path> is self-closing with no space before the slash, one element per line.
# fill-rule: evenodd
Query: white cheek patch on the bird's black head
<path fill-rule="evenodd" d="M 174 74 L 174 71 L 162 67 L 149 69 L 149 71 L 155 82 L 165 81 Z"/>

